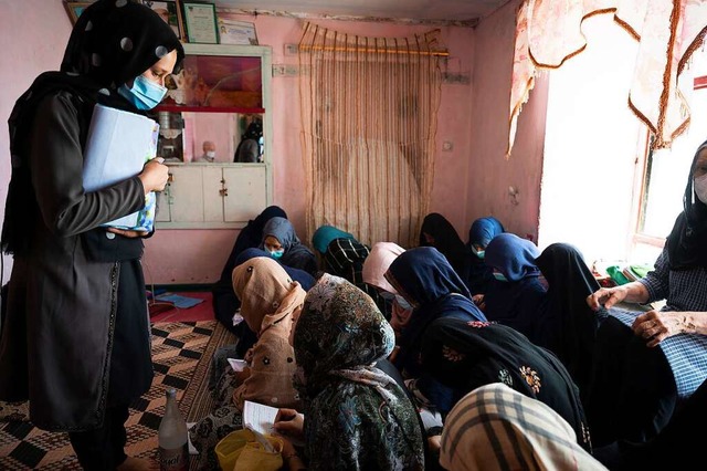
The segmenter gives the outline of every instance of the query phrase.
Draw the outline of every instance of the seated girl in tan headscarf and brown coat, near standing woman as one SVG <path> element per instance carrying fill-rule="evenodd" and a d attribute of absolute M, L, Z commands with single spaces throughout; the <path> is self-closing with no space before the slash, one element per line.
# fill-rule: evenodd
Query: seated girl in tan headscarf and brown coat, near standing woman
<path fill-rule="evenodd" d="M 306 292 L 279 263 L 265 257 L 238 265 L 232 281 L 241 300 L 241 315 L 257 334 L 257 342 L 245 357 L 249 366 L 239 375 L 233 402 L 241 410 L 245 400 L 296 408 L 292 380 L 295 354 L 287 338 L 292 315 L 302 310 Z"/>

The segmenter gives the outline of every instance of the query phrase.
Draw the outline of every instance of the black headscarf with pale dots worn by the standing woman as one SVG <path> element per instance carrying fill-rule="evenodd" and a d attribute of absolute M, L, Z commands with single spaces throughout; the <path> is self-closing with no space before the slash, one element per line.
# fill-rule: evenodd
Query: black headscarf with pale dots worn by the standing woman
<path fill-rule="evenodd" d="M 177 50 L 176 71 L 184 51 L 172 29 L 151 9 L 127 0 L 98 0 L 87 7 L 71 33 L 61 72 L 41 74 L 17 101 L 10 119 L 12 178 L 6 202 L 2 250 L 28 250 L 27 228 L 39 211 L 31 184 L 29 149 L 34 115 L 42 101 L 60 91 L 75 98 L 85 144 L 93 106 L 102 103 L 134 113 L 116 88 Z"/>

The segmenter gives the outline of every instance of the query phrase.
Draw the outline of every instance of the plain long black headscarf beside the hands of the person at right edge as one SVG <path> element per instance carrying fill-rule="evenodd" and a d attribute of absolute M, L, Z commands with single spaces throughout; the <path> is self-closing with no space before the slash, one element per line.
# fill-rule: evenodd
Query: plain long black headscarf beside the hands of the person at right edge
<path fill-rule="evenodd" d="M 599 290 L 599 283 L 579 250 L 567 243 L 548 245 L 535 263 L 548 282 L 546 303 L 538 315 L 538 343 L 562 360 L 584 396 L 592 371 L 594 335 L 605 317 L 603 310 L 595 313 L 587 305 L 587 296 Z"/>

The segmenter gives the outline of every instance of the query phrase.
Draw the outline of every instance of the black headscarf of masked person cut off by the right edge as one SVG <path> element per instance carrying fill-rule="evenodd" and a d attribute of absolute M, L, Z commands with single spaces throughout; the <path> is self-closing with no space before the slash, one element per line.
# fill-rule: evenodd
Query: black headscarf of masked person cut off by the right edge
<path fill-rule="evenodd" d="M 707 206 L 701 202 L 693 188 L 695 164 L 699 154 L 707 149 L 703 143 L 695 153 L 689 167 L 689 176 L 683 195 L 683 212 L 675 220 L 667 238 L 667 254 L 671 270 L 707 268 Z"/>

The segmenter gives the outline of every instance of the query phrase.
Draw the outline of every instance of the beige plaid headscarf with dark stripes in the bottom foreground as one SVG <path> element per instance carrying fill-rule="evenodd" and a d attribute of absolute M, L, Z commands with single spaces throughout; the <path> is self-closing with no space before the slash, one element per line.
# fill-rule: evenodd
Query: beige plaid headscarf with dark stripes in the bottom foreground
<path fill-rule="evenodd" d="M 454 406 L 440 464 L 454 471 L 605 470 L 557 412 L 499 383 L 474 389 Z"/>

